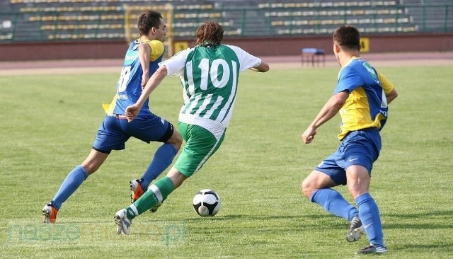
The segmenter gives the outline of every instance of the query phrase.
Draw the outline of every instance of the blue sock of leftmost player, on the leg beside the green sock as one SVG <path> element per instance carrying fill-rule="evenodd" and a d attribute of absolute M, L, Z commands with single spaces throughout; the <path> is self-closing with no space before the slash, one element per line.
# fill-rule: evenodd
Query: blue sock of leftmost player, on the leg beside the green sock
<path fill-rule="evenodd" d="M 142 182 L 140 182 L 140 185 L 145 192 L 147 191 L 148 185 L 151 181 L 156 179 L 168 166 L 171 165 L 171 162 L 173 162 L 173 158 L 176 154 L 178 154 L 178 149 L 176 149 L 173 144 L 166 143 L 159 146 L 159 149 L 156 150 L 156 154 L 154 154 L 153 161 L 151 161 L 147 171 L 145 171 L 142 176 Z"/>

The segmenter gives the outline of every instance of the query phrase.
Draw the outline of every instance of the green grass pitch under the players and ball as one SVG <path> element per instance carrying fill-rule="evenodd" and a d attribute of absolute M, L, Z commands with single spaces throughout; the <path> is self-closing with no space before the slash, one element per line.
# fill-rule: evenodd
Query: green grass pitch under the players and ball
<path fill-rule="evenodd" d="M 379 69 L 379 68 L 378 68 Z M 453 67 L 383 67 L 399 97 L 382 131 L 372 172 L 384 258 L 453 258 Z M 310 145 L 300 135 L 336 84 L 337 68 L 246 71 L 231 125 L 210 161 L 156 214 L 117 236 L 113 214 L 130 202 L 159 144 L 127 142 L 114 151 L 43 225 L 41 209 L 83 161 L 103 120 L 117 74 L 0 76 L 0 258 L 363 258 L 367 238 L 345 241 L 348 222 L 307 201 L 301 180 L 339 142 L 340 117 Z M 168 78 L 151 110 L 174 124 L 180 84 Z M 197 190 L 212 188 L 222 209 L 193 211 Z M 338 187 L 352 201 L 345 187 Z"/>

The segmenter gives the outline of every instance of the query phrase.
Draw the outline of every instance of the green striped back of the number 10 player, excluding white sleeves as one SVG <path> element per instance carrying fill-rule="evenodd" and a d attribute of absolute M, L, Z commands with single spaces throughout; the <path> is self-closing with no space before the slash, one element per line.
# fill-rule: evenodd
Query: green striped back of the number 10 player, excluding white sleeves
<path fill-rule="evenodd" d="M 197 46 L 185 67 L 188 101 L 181 113 L 222 123 L 231 116 L 239 76 L 239 59 L 226 45 Z"/>

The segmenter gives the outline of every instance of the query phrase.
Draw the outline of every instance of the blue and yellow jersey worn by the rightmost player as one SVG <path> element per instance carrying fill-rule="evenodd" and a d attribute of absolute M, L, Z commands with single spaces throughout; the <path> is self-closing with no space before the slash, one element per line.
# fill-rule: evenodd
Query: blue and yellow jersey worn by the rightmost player
<path fill-rule="evenodd" d="M 340 109 L 342 122 L 338 139 L 341 140 L 348 132 L 358 129 L 382 129 L 388 112 L 385 96 L 393 89 L 393 84 L 366 60 L 352 57 L 350 63 L 338 72 L 338 83 L 334 91 L 349 93 Z"/>

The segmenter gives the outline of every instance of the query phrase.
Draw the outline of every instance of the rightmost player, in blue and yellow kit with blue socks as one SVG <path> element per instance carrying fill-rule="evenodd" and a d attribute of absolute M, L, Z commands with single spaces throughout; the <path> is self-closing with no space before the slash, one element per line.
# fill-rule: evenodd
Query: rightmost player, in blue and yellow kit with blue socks
<path fill-rule="evenodd" d="M 357 28 L 338 28 L 333 33 L 333 52 L 341 67 L 338 83 L 333 96 L 302 134 L 302 140 L 311 143 L 316 129 L 340 113 L 341 144 L 304 179 L 302 192 L 311 202 L 350 221 L 347 241 L 357 241 L 367 234 L 369 246 L 357 253 L 386 253 L 379 208 L 369 194 L 369 181 L 373 162 L 381 151 L 379 131 L 386 122 L 388 104 L 398 93 L 382 74 L 360 58 Z M 337 185 L 348 185 L 357 208 L 332 189 Z"/>

